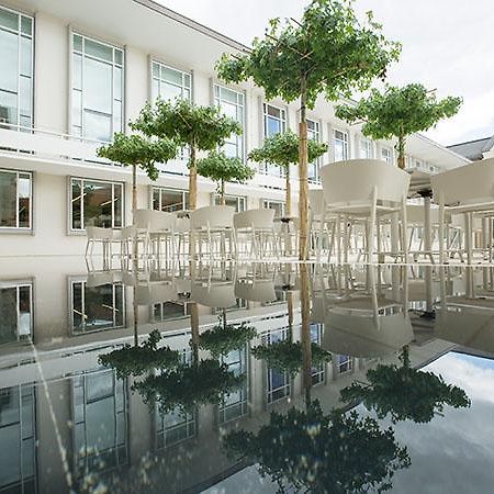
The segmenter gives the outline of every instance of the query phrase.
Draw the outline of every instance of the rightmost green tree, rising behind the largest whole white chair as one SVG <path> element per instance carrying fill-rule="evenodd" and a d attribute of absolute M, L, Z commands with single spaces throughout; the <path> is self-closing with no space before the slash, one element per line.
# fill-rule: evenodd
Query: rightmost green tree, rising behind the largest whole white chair
<path fill-rule="evenodd" d="M 386 86 L 383 92 L 372 89 L 369 98 L 356 105 L 338 105 L 336 116 L 350 123 L 362 121 L 363 135 L 373 139 L 396 137 L 397 165 L 404 169 L 407 136 L 453 116 L 461 103 L 461 98 L 453 97 L 438 101 L 434 91 L 419 83 L 403 88 Z"/>

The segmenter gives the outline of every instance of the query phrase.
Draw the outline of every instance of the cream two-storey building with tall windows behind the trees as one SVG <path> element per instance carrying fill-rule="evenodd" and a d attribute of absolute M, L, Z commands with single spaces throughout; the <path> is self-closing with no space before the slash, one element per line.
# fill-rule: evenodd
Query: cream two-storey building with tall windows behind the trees
<path fill-rule="evenodd" d="M 244 127 L 225 145 L 244 159 L 265 136 L 296 130 L 296 103 L 266 101 L 250 82 L 217 79 L 221 55 L 246 49 L 150 0 L 0 0 L 0 256 L 80 254 L 87 225 L 131 221 L 131 172 L 96 150 L 114 132 L 127 132 L 158 96 L 220 105 Z M 395 160 L 393 142 L 364 138 L 359 125 L 338 121 L 324 98 L 308 119 L 311 136 L 329 143 L 310 167 L 313 182 L 319 167 L 335 160 Z M 408 151 L 409 168 L 430 172 L 467 162 L 422 135 L 408 139 Z M 139 207 L 187 206 L 187 175 L 183 150 L 161 166 L 156 182 L 139 176 Z M 292 176 L 296 200 L 296 170 Z M 283 211 L 277 168 L 260 166 L 249 184 L 226 191 L 238 210 Z M 199 205 L 215 201 L 212 182 L 200 179 L 199 192 Z"/>

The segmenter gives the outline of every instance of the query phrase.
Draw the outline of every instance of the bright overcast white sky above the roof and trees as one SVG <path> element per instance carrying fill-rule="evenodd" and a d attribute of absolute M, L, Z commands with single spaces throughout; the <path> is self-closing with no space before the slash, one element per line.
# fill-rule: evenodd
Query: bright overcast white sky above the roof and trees
<path fill-rule="evenodd" d="M 159 3 L 250 45 L 272 18 L 300 18 L 306 0 L 158 0 Z M 386 37 L 403 44 L 388 81 L 422 82 L 439 98 L 460 96 L 459 113 L 425 134 L 457 144 L 494 134 L 494 10 L 492 0 L 356 0 L 372 10 Z"/>

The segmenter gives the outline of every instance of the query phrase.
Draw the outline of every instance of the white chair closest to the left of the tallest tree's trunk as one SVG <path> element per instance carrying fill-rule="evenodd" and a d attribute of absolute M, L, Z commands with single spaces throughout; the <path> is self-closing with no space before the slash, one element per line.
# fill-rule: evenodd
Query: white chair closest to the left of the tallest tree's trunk
<path fill-rule="evenodd" d="M 247 235 L 250 238 L 250 255 L 262 259 L 267 255 L 267 246 L 271 242 L 271 250 L 278 255 L 274 233 L 274 210 L 260 209 L 236 213 L 234 215 L 235 238 L 239 252 L 239 240 Z"/>

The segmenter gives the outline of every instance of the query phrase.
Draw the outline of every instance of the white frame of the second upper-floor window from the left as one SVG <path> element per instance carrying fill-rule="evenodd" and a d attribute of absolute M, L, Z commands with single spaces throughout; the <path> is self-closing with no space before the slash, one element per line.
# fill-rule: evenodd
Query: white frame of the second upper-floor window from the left
<path fill-rule="evenodd" d="M 74 38 L 75 36 L 80 36 L 82 38 L 82 49 L 79 52 L 75 49 L 74 47 Z M 109 60 L 104 60 L 103 58 L 99 58 L 97 56 L 93 55 L 86 55 L 85 53 L 85 42 L 86 40 L 92 42 L 92 43 L 97 43 L 99 45 L 102 46 L 106 46 L 109 48 L 111 48 L 112 52 L 112 61 L 110 63 Z M 115 50 L 119 50 L 122 53 L 122 64 L 116 64 L 115 63 Z M 74 72 L 75 72 L 75 63 L 74 63 L 74 56 L 75 55 L 79 55 L 81 56 L 81 89 L 78 90 L 76 89 L 74 86 Z M 100 63 L 104 63 L 108 64 L 112 67 L 112 80 L 111 80 L 111 94 L 112 94 L 112 109 L 111 109 L 111 114 L 101 112 L 101 111 L 97 111 L 97 110 L 90 110 L 90 113 L 93 114 L 100 114 L 100 115 L 106 115 L 111 117 L 111 131 L 110 131 L 110 141 L 105 142 L 105 141 L 99 141 L 99 139 L 94 139 L 91 137 L 86 137 L 85 135 L 85 77 L 83 77 L 83 71 L 85 71 L 85 59 L 86 57 L 88 57 L 89 59 L 92 60 L 97 60 Z M 92 142 L 92 143 L 101 143 L 101 144 L 108 144 L 110 142 L 113 141 L 113 135 L 115 134 L 115 132 L 125 132 L 125 71 L 126 71 L 126 59 L 125 59 L 125 48 L 123 46 L 120 46 L 117 44 L 114 43 L 109 43 L 106 41 L 102 41 L 99 37 L 94 37 L 92 35 L 88 35 L 88 34 L 83 34 L 82 31 L 79 30 L 74 30 L 70 29 L 69 30 L 69 108 L 68 108 L 68 135 L 70 135 L 72 138 L 75 139 L 80 139 L 80 141 L 85 141 L 85 142 Z M 119 100 L 117 98 L 115 98 L 115 67 L 119 67 L 121 69 L 121 99 Z M 81 108 L 80 108 L 80 125 L 76 125 L 74 123 L 74 92 L 75 91 L 79 91 L 81 94 Z M 114 112 L 114 105 L 115 105 L 115 101 L 119 101 L 121 104 L 121 111 L 120 111 L 120 130 L 115 128 L 115 112 Z M 76 134 L 74 132 L 74 127 L 80 127 L 80 135 Z"/>

